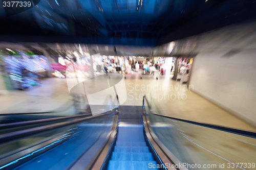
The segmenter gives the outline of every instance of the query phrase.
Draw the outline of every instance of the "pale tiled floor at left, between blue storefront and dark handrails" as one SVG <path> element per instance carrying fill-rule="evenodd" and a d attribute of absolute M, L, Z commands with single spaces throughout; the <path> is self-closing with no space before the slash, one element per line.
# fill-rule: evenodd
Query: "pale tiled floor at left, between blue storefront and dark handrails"
<path fill-rule="evenodd" d="M 0 113 L 57 111 L 71 106 L 72 97 L 66 79 L 48 78 L 41 83 L 27 90 L 13 90 L 8 91 L 8 95 L 0 95 Z"/>

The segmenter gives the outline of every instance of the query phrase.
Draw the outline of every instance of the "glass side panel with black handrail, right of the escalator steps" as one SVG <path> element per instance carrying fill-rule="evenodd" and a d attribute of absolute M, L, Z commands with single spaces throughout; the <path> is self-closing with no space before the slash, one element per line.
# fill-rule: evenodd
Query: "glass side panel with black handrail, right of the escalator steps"
<path fill-rule="evenodd" d="M 175 165 L 198 169 L 195 164 L 201 168 L 225 164 L 224 169 L 228 165 L 245 169 L 236 163 L 240 161 L 255 167 L 255 132 L 162 115 L 154 100 L 145 96 L 143 114 L 154 141 Z"/>

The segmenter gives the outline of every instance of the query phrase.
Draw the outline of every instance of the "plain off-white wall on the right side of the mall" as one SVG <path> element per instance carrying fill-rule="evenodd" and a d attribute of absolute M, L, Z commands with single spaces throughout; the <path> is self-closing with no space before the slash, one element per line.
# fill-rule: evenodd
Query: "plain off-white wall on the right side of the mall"
<path fill-rule="evenodd" d="M 202 52 L 194 59 L 195 92 L 256 125 L 256 50 Z M 224 55 L 224 56 L 223 56 Z"/>

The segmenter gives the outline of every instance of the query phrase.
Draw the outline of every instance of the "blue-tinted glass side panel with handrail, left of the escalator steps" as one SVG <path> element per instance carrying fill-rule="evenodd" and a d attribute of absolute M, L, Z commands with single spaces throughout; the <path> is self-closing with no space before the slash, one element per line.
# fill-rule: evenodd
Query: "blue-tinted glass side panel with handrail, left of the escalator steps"
<path fill-rule="evenodd" d="M 106 110 L 108 108 L 109 106 L 106 105 Z M 89 115 L 64 116 L 65 121 L 59 120 L 62 121 L 59 123 L 53 120 L 52 124 L 45 122 L 39 127 L 32 124 L 31 126 L 35 127 L 4 133 L 0 135 L 0 169 L 23 169 L 26 164 L 31 163 L 31 167 L 25 167 L 25 169 L 38 169 L 39 162 L 44 164 L 40 166 L 41 169 L 50 167 L 62 169 L 63 166 L 75 164 L 78 160 L 76 158 L 81 155 L 92 156 L 102 146 L 102 142 L 113 126 L 116 116 L 113 113 L 115 110 L 92 116 L 88 111 Z M 44 119 L 38 121 L 41 120 Z M 26 122 L 29 121 L 20 122 L 20 124 Z M 62 160 L 63 155 L 65 155 L 65 161 Z M 37 157 L 40 157 L 40 160 L 33 165 Z"/>

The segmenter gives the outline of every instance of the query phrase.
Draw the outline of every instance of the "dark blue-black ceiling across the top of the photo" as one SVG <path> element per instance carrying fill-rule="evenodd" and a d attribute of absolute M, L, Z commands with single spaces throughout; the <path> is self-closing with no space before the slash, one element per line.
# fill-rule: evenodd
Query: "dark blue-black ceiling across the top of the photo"
<path fill-rule="evenodd" d="M 41 0 L 8 17 L 1 5 L 0 41 L 155 46 L 255 18 L 255 1 Z"/>

